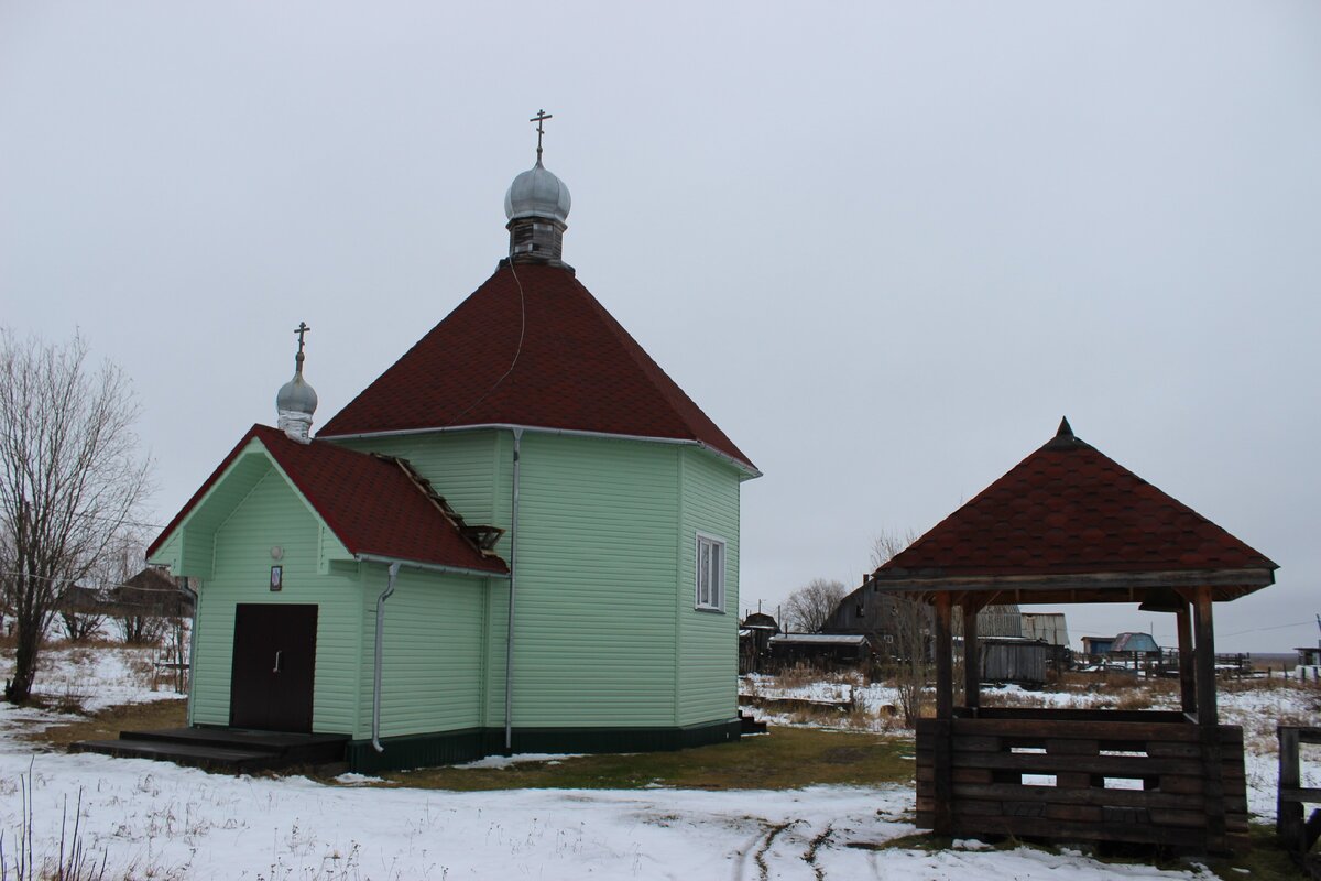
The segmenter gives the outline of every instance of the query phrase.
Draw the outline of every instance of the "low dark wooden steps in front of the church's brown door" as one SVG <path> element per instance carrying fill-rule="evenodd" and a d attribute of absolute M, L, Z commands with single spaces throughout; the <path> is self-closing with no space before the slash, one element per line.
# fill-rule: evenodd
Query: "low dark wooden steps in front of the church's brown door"
<path fill-rule="evenodd" d="M 120 732 L 119 740 L 73 744 L 75 753 L 147 758 L 229 774 L 252 774 L 345 761 L 346 734 L 296 734 L 235 728 Z"/>

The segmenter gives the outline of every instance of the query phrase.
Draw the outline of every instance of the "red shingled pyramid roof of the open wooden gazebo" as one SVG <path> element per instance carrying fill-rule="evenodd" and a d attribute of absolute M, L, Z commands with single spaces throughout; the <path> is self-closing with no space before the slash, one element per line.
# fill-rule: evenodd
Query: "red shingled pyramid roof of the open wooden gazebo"
<path fill-rule="evenodd" d="M 905 576 L 1275 568 L 1264 555 L 1074 437 L 1065 421 L 1054 439 L 876 576 L 884 582 Z"/>

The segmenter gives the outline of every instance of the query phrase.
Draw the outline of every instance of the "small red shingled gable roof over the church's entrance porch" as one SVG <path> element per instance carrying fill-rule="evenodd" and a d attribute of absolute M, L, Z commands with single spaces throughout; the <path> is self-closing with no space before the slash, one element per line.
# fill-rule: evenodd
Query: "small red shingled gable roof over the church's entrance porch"
<path fill-rule="evenodd" d="M 271 453 L 350 553 L 509 572 L 503 560 L 483 556 L 468 542 L 396 462 L 325 441 L 299 444 L 267 425 L 254 425 L 243 436 L 147 549 L 148 556 L 165 543 L 252 439 Z"/>

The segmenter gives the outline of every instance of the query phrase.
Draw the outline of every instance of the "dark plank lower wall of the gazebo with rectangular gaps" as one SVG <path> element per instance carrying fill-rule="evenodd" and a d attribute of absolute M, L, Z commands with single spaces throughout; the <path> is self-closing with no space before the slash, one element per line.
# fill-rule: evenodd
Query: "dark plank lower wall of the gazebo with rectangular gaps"
<path fill-rule="evenodd" d="M 917 726 L 918 826 L 1201 852 L 1246 844 L 1243 732 L 1182 713 L 979 709 Z"/>

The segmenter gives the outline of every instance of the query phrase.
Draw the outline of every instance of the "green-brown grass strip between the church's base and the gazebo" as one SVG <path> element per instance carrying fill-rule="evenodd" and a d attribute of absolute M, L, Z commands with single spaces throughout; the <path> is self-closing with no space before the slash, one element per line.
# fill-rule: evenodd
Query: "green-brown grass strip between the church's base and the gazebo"
<path fill-rule="evenodd" d="M 910 783 L 913 741 L 816 728 L 771 728 L 733 744 L 672 753 L 583 756 L 501 769 L 428 767 L 386 774 L 394 785 L 444 790 L 799 789 L 816 783 Z"/>

